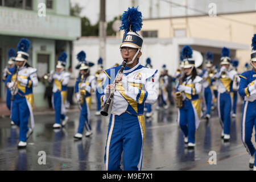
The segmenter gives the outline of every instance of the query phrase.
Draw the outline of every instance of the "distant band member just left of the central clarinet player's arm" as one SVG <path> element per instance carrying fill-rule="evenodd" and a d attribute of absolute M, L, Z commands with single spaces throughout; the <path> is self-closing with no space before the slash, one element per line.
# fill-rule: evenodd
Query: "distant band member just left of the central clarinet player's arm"
<path fill-rule="evenodd" d="M 106 79 L 106 74 L 103 72 L 102 58 L 98 59 L 98 71 L 96 72 L 97 79 L 97 89 L 96 89 L 96 101 L 97 101 L 97 111 L 95 115 L 101 115 L 101 90 Z"/>

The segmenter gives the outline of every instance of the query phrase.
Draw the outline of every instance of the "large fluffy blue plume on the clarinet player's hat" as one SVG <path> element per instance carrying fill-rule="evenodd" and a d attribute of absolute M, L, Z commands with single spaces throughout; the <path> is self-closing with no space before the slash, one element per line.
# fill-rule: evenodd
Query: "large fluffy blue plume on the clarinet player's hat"
<path fill-rule="evenodd" d="M 142 28 L 142 13 L 141 11 L 138 11 L 138 7 L 129 7 L 128 10 L 123 13 L 121 21 L 122 25 L 119 31 L 125 31 L 125 35 L 129 31 L 140 31 Z"/>

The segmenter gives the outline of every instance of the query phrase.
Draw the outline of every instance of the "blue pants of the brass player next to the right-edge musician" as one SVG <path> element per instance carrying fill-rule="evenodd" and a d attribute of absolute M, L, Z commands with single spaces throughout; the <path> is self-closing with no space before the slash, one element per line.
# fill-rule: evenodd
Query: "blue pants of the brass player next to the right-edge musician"
<path fill-rule="evenodd" d="M 230 93 L 218 93 L 218 117 L 224 130 L 224 134 L 230 134 L 230 112 L 232 108 L 232 98 Z"/>

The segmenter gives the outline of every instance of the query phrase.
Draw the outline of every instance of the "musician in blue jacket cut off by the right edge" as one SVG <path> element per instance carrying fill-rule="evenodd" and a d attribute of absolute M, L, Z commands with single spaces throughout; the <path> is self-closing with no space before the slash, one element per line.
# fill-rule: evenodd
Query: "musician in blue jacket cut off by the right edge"
<path fill-rule="evenodd" d="M 251 66 L 253 69 L 240 75 L 241 80 L 238 92 L 245 99 L 242 113 L 242 142 L 251 156 L 249 167 L 254 168 L 254 171 L 256 171 L 255 147 L 251 142 L 253 127 L 255 131 L 256 126 L 256 34 L 253 36 L 251 47 Z"/>

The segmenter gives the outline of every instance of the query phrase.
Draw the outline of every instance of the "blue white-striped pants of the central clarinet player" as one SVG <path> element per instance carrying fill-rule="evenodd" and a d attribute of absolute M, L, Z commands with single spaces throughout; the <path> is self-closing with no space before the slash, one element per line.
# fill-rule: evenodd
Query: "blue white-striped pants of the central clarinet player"
<path fill-rule="evenodd" d="M 143 158 L 143 116 L 131 115 L 127 112 L 121 115 L 110 115 L 108 138 L 105 148 L 106 170 L 121 170 L 120 162 L 123 152 L 123 168 L 126 171 L 141 170 Z M 142 124 L 141 124 L 142 122 Z"/>

